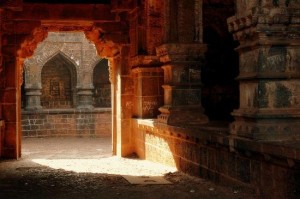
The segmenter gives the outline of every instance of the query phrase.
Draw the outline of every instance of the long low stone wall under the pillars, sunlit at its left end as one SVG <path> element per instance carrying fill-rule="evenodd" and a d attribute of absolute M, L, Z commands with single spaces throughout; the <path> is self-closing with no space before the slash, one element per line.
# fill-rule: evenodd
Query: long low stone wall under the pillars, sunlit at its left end
<path fill-rule="evenodd" d="M 300 198 L 299 142 L 255 142 L 232 137 L 225 125 L 172 127 L 155 120 L 133 120 L 140 158 L 176 166 L 257 198 Z"/>

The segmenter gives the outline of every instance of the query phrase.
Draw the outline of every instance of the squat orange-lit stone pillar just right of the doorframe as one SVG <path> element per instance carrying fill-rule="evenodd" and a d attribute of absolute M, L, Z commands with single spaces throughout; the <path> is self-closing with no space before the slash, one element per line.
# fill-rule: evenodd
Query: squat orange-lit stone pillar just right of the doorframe
<path fill-rule="evenodd" d="M 131 60 L 134 84 L 133 115 L 156 118 L 163 105 L 163 70 L 156 56 L 137 56 Z"/>

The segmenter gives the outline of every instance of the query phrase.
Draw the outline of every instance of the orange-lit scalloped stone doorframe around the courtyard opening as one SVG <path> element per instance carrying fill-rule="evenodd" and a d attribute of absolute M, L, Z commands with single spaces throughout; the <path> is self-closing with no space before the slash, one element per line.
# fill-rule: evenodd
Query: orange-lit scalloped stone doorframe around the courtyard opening
<path fill-rule="evenodd" d="M 75 24 L 78 24 L 75 22 Z M 109 80 L 111 82 L 112 91 L 112 153 L 113 155 L 125 156 L 131 153 L 130 139 L 130 118 L 121 117 L 122 112 L 122 78 L 121 66 L 127 66 L 127 56 L 129 46 L 124 43 L 114 43 L 112 40 L 106 41 L 103 39 L 101 29 L 95 27 L 90 22 L 81 22 L 78 25 L 74 25 L 73 21 L 63 21 L 59 20 L 42 22 L 40 27 L 36 27 L 30 36 L 25 39 L 21 44 L 21 48 L 17 51 L 16 58 L 16 69 L 15 78 L 17 79 L 16 88 L 16 121 L 15 125 L 10 127 L 10 131 L 15 131 L 15 133 L 10 133 L 9 139 L 13 145 L 9 147 L 5 146 L 4 143 L 4 158 L 14 158 L 18 159 L 21 157 L 21 85 L 23 83 L 23 66 L 24 60 L 33 55 L 37 44 L 42 42 L 46 37 L 48 32 L 58 32 L 58 31 L 82 31 L 85 33 L 86 38 L 93 42 L 97 49 L 97 54 L 109 60 Z M 99 38 L 102 38 L 101 40 Z M 118 38 L 118 41 L 120 39 Z M 125 126 L 126 127 L 125 127 Z M 126 132 L 126 133 L 125 133 Z M 125 137 L 124 137 L 125 136 Z M 128 137 L 128 138 L 127 138 Z M 4 138 L 5 139 L 5 138 Z M 5 151 L 7 150 L 7 151 Z"/>

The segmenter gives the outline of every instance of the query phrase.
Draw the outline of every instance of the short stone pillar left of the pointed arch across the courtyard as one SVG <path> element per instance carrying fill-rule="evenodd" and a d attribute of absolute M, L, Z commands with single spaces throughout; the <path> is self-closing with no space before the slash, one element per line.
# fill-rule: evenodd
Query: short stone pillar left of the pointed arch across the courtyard
<path fill-rule="evenodd" d="M 41 106 L 41 95 L 42 86 L 37 84 L 31 87 L 25 87 L 26 95 L 26 110 L 38 110 L 42 109 Z"/>

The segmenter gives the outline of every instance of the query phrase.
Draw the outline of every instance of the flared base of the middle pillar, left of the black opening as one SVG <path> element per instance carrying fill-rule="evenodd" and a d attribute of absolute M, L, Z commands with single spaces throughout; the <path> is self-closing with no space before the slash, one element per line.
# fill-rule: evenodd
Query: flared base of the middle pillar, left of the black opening
<path fill-rule="evenodd" d="M 200 125 L 209 122 L 209 119 L 203 113 L 203 108 L 193 107 L 168 107 L 159 108 L 161 114 L 158 121 L 172 126 L 190 126 Z"/>

